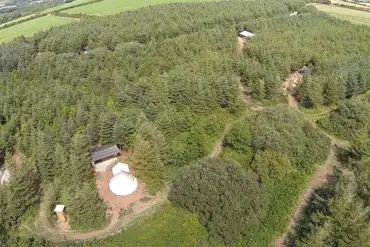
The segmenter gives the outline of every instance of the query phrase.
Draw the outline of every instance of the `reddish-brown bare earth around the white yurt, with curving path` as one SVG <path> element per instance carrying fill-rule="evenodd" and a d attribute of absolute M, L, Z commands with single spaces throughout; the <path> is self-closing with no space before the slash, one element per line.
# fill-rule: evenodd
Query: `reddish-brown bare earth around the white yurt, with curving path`
<path fill-rule="evenodd" d="M 130 159 L 126 156 L 121 156 L 119 160 L 120 162 L 130 163 Z M 137 217 L 152 213 L 158 205 L 167 200 L 167 188 L 153 196 L 146 191 L 144 184 L 140 182 L 137 190 L 133 194 L 128 196 L 117 196 L 109 189 L 109 182 L 113 177 L 112 171 L 98 173 L 96 177 L 99 195 L 108 207 L 107 216 L 110 218 L 109 225 L 104 229 L 92 232 L 74 232 L 70 229 L 68 222 L 58 221 L 55 226 L 53 226 L 47 217 L 45 204 L 42 202 L 37 222 L 37 226 L 40 229 L 39 232 L 42 236 L 55 242 L 104 238 L 119 233 L 120 229 Z"/>

